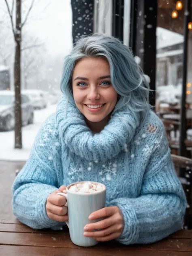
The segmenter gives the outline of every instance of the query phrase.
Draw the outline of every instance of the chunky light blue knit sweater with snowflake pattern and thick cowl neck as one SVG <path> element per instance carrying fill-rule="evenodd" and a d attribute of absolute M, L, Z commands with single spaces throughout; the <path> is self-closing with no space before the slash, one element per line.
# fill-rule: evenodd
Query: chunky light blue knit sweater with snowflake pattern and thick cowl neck
<path fill-rule="evenodd" d="M 123 118 L 119 118 L 119 116 Z M 113 113 L 98 134 L 63 98 L 39 130 L 30 157 L 13 184 L 13 213 L 24 224 L 59 229 L 48 218 L 47 196 L 61 185 L 98 181 L 107 187 L 106 206 L 124 217 L 117 239 L 151 243 L 179 230 L 186 198 L 171 161 L 164 126 L 150 111 L 138 127 L 130 113 Z"/>

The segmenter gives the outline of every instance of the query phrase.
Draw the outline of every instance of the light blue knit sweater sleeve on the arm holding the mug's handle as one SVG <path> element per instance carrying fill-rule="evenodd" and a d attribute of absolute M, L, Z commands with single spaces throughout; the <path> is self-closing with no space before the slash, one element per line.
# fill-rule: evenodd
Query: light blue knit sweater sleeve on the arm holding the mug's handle
<path fill-rule="evenodd" d="M 13 183 L 13 213 L 31 228 L 61 228 L 65 222 L 46 213 L 47 196 L 58 189 L 55 162 L 59 163 L 54 117 L 49 117 L 36 135 L 30 157 Z"/>

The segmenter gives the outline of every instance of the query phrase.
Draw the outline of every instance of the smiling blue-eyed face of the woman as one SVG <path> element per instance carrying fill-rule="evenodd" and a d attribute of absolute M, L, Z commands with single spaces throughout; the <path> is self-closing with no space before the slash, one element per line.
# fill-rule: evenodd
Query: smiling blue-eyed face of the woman
<path fill-rule="evenodd" d="M 79 60 L 73 70 L 72 87 L 75 104 L 87 119 L 88 126 L 102 130 L 117 102 L 109 63 L 102 58 Z"/>

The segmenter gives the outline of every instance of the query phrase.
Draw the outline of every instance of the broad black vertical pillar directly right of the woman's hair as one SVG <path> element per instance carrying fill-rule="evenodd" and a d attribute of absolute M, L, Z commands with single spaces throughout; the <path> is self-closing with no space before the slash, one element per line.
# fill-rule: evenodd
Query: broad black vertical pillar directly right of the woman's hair
<path fill-rule="evenodd" d="M 141 58 L 141 68 L 151 79 L 150 104 L 155 106 L 157 1 L 132 0 L 130 47 Z"/>

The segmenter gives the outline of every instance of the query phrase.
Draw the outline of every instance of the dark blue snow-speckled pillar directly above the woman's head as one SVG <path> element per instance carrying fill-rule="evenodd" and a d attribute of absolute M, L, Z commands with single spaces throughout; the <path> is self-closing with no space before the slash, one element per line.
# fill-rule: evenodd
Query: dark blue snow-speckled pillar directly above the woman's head
<path fill-rule="evenodd" d="M 73 43 L 80 36 L 93 33 L 94 0 L 71 0 L 73 12 Z M 67 26 L 67 24 L 66 24 Z"/>

